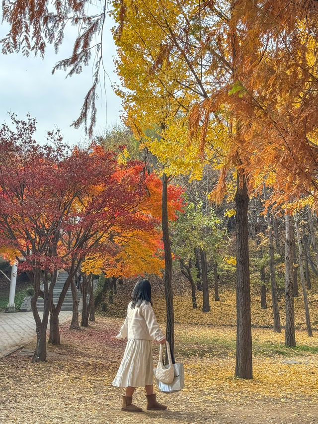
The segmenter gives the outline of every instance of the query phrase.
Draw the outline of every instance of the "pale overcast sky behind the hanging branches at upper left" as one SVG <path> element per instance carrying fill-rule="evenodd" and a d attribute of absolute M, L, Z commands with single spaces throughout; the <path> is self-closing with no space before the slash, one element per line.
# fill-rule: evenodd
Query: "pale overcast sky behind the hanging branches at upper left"
<path fill-rule="evenodd" d="M 104 64 L 111 82 L 118 83 L 113 65 L 116 50 L 110 32 L 113 22 L 108 16 L 106 19 Z M 0 25 L 0 39 L 7 29 L 4 24 Z M 81 74 L 71 78 L 66 79 L 64 71 L 52 75 L 55 63 L 72 53 L 76 34 L 76 28 L 70 27 L 58 55 L 49 45 L 43 60 L 31 55 L 26 58 L 21 53 L 0 53 L 0 124 L 9 122 L 7 111 L 17 113 L 19 119 L 24 119 L 29 112 L 38 122 L 36 140 L 40 143 L 45 141 L 46 132 L 54 128 L 59 128 L 64 140 L 71 145 L 85 139 L 83 128 L 76 130 L 70 125 L 78 118 L 84 96 L 92 84 L 92 65 L 83 67 Z M 109 79 L 105 79 L 106 93 L 99 89 L 97 134 L 102 133 L 107 125 L 120 121 L 121 100 L 113 92 Z"/>

